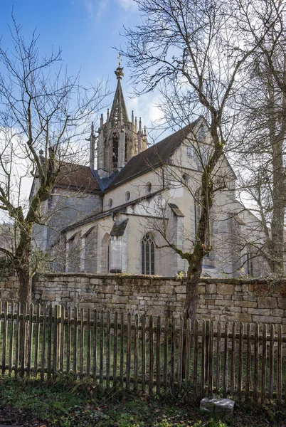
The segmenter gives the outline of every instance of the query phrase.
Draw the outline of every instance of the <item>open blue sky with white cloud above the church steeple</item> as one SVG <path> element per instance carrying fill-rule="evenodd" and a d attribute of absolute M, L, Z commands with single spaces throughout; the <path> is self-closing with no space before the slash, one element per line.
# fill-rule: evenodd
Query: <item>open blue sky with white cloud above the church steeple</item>
<path fill-rule="evenodd" d="M 132 0 L 0 0 L 3 48 L 11 46 L 12 10 L 16 22 L 23 27 L 24 36 L 29 38 L 36 28 L 41 53 L 49 53 L 52 46 L 60 47 L 70 75 L 80 70 L 80 81 L 86 86 L 96 84 L 101 78 L 109 79 L 110 90 L 115 90 L 114 70 L 118 59 L 112 47 L 124 46 L 125 39 L 120 36 L 123 25 L 133 26 L 139 22 L 139 12 Z M 143 125 L 149 127 L 152 118 L 158 117 L 150 101 L 152 96 L 129 97 L 132 87 L 127 67 L 124 70 L 122 85 L 129 114 L 134 110 L 134 115 L 142 116 Z"/>

